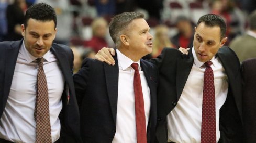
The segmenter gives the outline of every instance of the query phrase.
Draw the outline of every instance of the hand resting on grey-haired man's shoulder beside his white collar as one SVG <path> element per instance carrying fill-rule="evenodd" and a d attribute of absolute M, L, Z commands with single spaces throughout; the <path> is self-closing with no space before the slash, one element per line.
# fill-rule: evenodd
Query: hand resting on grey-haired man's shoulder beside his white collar
<path fill-rule="evenodd" d="M 109 65 L 115 65 L 115 60 L 112 56 L 115 56 L 115 50 L 113 48 L 102 48 L 98 51 L 98 53 L 95 55 L 95 59 L 106 62 Z"/>

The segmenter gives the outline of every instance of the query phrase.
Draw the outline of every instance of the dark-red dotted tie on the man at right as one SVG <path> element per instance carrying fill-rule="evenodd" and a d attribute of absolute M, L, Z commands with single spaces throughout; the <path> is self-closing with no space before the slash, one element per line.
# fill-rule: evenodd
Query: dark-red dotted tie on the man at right
<path fill-rule="evenodd" d="M 211 61 L 204 63 L 206 69 L 204 73 L 201 143 L 216 143 L 215 89 L 211 64 L 213 64 Z"/>

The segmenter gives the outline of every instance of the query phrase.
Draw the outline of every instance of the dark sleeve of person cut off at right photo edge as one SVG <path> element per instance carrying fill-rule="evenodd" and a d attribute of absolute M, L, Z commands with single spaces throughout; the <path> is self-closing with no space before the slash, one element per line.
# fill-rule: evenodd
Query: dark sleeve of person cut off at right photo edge
<path fill-rule="evenodd" d="M 244 142 L 256 142 L 256 58 L 244 60 L 243 73 L 243 125 Z"/>

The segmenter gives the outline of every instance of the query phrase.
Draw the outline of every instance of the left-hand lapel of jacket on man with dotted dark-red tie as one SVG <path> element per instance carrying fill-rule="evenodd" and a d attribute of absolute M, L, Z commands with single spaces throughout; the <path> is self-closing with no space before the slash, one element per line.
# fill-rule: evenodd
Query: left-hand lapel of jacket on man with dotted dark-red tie
<path fill-rule="evenodd" d="M 186 84 L 187 77 L 190 74 L 191 68 L 193 66 L 193 54 L 192 48 L 188 50 L 188 55 L 181 55 L 182 58 L 177 60 L 177 77 L 176 77 L 176 85 L 177 85 L 177 100 L 179 100 L 183 88 Z"/>

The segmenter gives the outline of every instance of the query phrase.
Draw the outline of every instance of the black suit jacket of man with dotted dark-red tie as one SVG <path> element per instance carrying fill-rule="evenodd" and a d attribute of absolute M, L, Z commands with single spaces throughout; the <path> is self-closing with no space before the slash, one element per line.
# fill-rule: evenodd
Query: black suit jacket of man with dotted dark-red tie
<path fill-rule="evenodd" d="M 228 96 L 220 109 L 219 142 L 241 142 L 242 131 L 242 85 L 241 70 L 236 54 L 228 47 L 221 47 L 217 55 L 228 76 Z M 166 116 L 176 106 L 194 63 L 192 49 L 183 55 L 174 48 L 165 48 L 151 62 L 159 68 L 158 88 L 158 142 L 167 141 Z M 203 87 L 202 87 L 203 88 Z"/>

